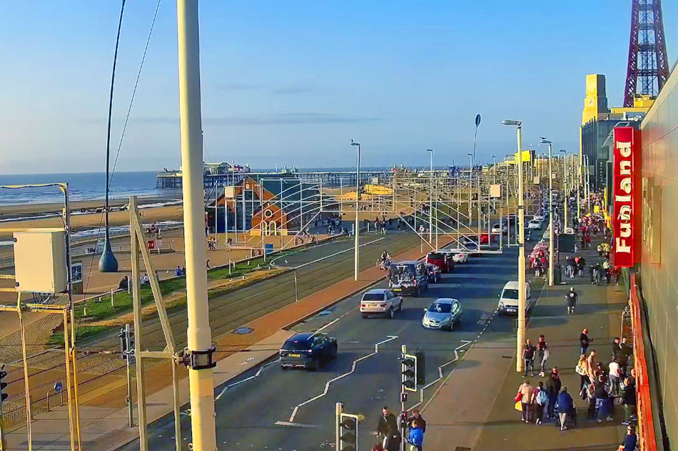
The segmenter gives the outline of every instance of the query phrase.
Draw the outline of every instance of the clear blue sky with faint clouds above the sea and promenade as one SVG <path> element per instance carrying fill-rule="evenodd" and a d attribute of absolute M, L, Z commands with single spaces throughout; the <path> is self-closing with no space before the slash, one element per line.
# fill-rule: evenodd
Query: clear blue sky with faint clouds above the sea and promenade
<path fill-rule="evenodd" d="M 156 0 L 128 0 L 111 152 Z M 121 1 L 0 0 L 0 174 L 102 172 Z M 664 1 L 669 62 L 678 2 Z M 467 164 L 540 135 L 578 151 L 587 73 L 621 105 L 630 0 L 200 2 L 204 160 L 253 168 Z M 181 165 L 176 1 L 161 0 L 117 170 Z"/>

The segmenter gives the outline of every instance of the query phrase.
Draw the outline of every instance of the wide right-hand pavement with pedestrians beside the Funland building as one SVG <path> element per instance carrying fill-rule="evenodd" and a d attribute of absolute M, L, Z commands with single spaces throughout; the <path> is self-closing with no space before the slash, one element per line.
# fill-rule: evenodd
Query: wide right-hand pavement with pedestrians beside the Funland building
<path fill-rule="evenodd" d="M 598 259 L 595 245 L 592 249 L 579 253 L 589 263 Z M 534 293 L 544 279 L 531 278 L 530 284 Z M 570 286 L 579 293 L 573 316 L 567 316 L 564 300 Z M 620 425 L 621 408 L 615 406 L 613 422 L 599 425 L 587 421 L 587 403 L 578 394 L 580 378 L 574 368 L 580 353 L 579 336 L 585 327 L 594 338 L 590 351 L 597 349 L 600 361 L 609 362 L 612 338 L 619 336 L 620 313 L 627 301 L 620 286 L 591 285 L 585 274 L 584 278 L 566 278 L 559 286 L 545 286 L 530 315 L 527 338 L 536 343 L 541 334 L 545 335 L 551 351 L 547 368 L 559 368 L 563 386 L 575 399 L 577 427 L 561 432 L 553 423 L 522 423 L 513 400 L 525 380 L 515 371 L 515 332 L 511 336 L 498 333 L 497 323 L 491 323 L 485 337 L 493 338 L 472 346 L 435 398 L 425 405 L 426 447 L 436 451 L 616 450 L 625 432 Z M 529 379 L 533 385 L 547 380 Z"/>

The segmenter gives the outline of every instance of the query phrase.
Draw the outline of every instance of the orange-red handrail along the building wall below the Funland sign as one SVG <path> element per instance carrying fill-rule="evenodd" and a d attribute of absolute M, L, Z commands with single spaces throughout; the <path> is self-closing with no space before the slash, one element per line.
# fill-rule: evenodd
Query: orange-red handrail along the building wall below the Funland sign
<path fill-rule="evenodd" d="M 642 333 L 642 316 L 636 274 L 630 280 L 631 324 L 633 331 L 633 358 L 636 370 L 636 408 L 638 415 L 639 445 L 641 451 L 657 451 L 657 440 L 654 435 L 654 418 L 652 417 L 652 400 L 649 393 L 647 362 Z"/>

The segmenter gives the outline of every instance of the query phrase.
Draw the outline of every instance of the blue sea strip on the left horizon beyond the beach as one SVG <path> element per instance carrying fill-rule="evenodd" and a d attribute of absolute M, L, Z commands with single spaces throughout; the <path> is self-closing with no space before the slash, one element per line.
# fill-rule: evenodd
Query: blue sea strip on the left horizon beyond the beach
<path fill-rule="evenodd" d="M 156 190 L 156 174 L 153 171 L 115 172 L 111 182 L 111 198 L 129 196 L 176 195 L 176 190 Z M 103 199 L 106 193 L 105 172 L 74 172 L 70 174 L 19 174 L 1 175 L 2 185 L 26 185 L 66 182 L 69 184 L 69 199 Z M 64 195 L 56 187 L 23 188 L 8 190 L 0 188 L 0 205 L 25 203 L 64 202 Z"/>

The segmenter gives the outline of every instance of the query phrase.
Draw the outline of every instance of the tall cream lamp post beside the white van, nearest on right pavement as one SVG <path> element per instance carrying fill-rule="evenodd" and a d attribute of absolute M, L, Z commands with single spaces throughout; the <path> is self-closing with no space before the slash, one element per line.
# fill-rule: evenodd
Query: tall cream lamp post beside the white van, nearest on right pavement
<path fill-rule="evenodd" d="M 518 330 L 516 337 L 515 370 L 525 369 L 522 346 L 525 344 L 525 201 L 522 198 L 522 122 L 504 120 L 502 125 L 514 125 L 518 140 Z"/>

